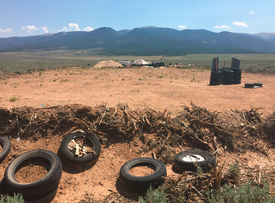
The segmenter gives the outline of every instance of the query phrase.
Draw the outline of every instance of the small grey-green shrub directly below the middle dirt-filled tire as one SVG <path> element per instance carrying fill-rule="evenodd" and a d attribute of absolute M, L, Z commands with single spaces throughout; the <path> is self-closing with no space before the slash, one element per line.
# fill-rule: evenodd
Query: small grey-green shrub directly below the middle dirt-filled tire
<path fill-rule="evenodd" d="M 165 190 L 154 190 L 151 185 L 150 188 L 146 192 L 146 196 L 143 198 L 139 198 L 139 203 L 168 203 L 166 200 L 167 193 Z"/>

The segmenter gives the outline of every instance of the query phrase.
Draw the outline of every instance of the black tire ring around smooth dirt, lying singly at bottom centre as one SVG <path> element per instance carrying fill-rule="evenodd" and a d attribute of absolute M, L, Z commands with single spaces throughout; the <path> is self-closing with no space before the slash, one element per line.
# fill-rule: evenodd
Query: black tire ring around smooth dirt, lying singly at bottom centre
<path fill-rule="evenodd" d="M 129 170 L 135 166 L 153 166 L 155 172 L 148 176 L 134 176 L 129 173 Z M 132 159 L 126 162 L 119 171 L 121 184 L 129 190 L 137 192 L 145 192 L 150 185 L 152 188 L 158 188 L 164 182 L 162 176 L 167 176 L 164 163 L 158 159 L 148 157 Z"/>

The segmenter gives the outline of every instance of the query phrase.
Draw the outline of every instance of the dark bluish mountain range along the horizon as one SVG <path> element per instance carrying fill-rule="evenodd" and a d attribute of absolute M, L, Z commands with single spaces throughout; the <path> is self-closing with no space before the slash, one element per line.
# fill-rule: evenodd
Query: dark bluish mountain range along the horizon
<path fill-rule="evenodd" d="M 100 27 L 28 37 L 0 38 L 0 52 L 101 48 L 99 54 L 185 55 L 188 53 L 275 53 L 275 33 L 232 33 L 140 27 Z"/>

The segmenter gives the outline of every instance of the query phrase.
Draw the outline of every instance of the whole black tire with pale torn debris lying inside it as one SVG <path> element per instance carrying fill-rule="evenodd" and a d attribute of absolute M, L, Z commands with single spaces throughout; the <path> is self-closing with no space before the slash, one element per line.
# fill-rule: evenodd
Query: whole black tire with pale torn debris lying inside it
<path fill-rule="evenodd" d="M 83 148 L 79 150 L 82 155 L 78 155 L 76 149 L 69 149 L 69 144 L 72 143 L 71 141 L 76 139 L 83 140 L 83 146 L 87 147 L 86 152 Z M 78 146 L 81 146 L 81 144 L 78 144 Z M 100 151 L 101 144 L 98 138 L 89 133 L 78 131 L 69 133 L 64 137 L 60 144 L 59 156 L 65 164 L 74 168 L 79 168 L 82 166 L 90 166 L 95 164 L 100 156 Z"/>

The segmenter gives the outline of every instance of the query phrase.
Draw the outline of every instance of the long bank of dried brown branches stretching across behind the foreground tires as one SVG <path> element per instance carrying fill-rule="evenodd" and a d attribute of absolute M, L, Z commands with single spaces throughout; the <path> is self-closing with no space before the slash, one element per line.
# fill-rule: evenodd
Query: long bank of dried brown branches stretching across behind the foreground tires
<path fill-rule="evenodd" d="M 265 134 L 262 136 L 265 140 L 274 139 L 274 114 L 263 121 L 257 113 L 258 109 L 235 113 L 234 116 L 237 114 L 245 123 L 242 127 L 223 122 L 219 112 L 211 112 L 193 103 L 191 105 L 191 108 L 184 107 L 184 112 L 176 117 L 171 116 L 168 110 L 131 110 L 123 103 L 110 109 L 107 103 L 93 108 L 65 105 L 53 109 L 27 106 L 0 109 L 0 133 L 35 139 L 62 134 L 78 127 L 93 133 L 105 144 L 108 144 L 110 136 L 118 140 L 139 136 L 144 142 L 141 153 L 153 150 L 154 156 L 165 163 L 172 160 L 171 146 L 187 146 L 209 152 L 221 149 L 240 152 L 243 148 L 264 151 L 264 146 L 254 146 L 255 134 Z M 147 134 L 154 136 L 145 136 Z"/>

